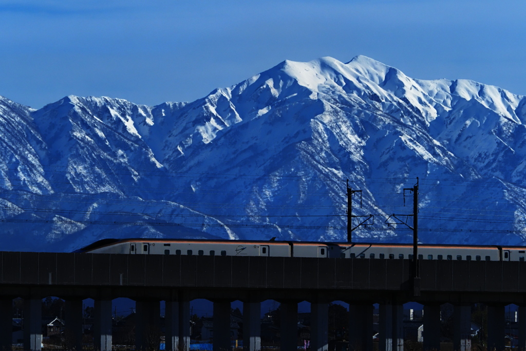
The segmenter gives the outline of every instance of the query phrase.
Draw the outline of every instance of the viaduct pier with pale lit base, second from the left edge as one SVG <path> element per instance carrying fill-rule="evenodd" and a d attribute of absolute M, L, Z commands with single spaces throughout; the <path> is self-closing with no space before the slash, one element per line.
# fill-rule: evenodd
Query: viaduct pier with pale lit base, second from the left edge
<path fill-rule="evenodd" d="M 42 349 L 42 300 L 24 299 L 24 350 Z"/>

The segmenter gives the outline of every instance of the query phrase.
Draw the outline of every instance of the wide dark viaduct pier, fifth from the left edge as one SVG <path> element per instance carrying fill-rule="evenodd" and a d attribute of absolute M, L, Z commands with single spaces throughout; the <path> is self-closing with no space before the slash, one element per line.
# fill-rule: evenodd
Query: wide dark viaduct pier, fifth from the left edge
<path fill-rule="evenodd" d="M 135 302 L 135 349 L 157 348 L 160 342 L 160 306 L 158 300 Z"/>

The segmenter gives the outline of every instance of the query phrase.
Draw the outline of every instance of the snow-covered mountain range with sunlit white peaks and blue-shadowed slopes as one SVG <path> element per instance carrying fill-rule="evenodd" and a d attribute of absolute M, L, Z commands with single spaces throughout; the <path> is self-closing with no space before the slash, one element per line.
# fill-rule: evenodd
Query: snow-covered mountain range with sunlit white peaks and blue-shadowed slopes
<path fill-rule="evenodd" d="M 285 61 L 191 103 L 0 97 L 3 250 L 107 237 L 526 240 L 526 97 L 365 56 Z M 361 203 L 361 208 L 360 208 Z M 404 206 L 404 203 L 406 206 Z M 397 218 L 390 215 L 396 214 Z M 366 217 L 355 218 L 358 220 Z M 391 225 L 389 225 L 391 224 Z"/>

